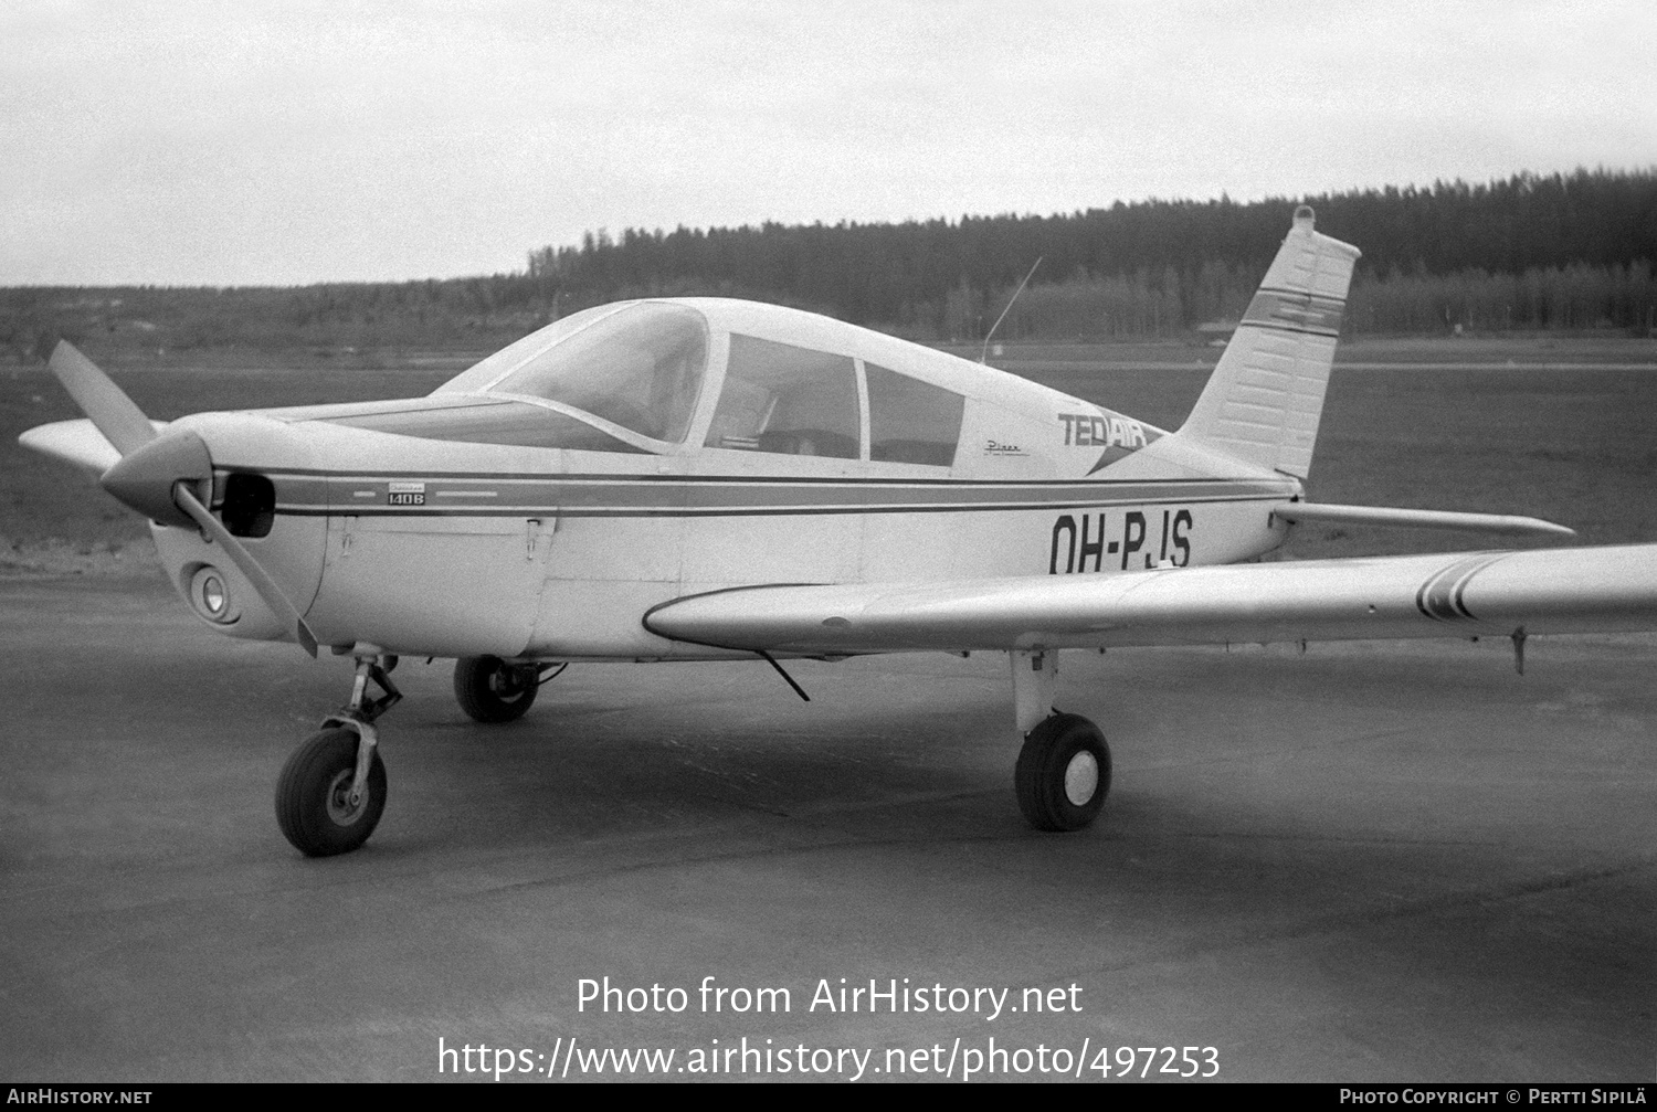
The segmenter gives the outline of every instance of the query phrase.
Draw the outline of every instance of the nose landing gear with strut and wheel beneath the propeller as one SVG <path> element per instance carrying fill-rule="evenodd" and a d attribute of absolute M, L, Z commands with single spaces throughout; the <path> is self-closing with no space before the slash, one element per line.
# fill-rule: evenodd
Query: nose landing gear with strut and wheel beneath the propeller
<path fill-rule="evenodd" d="M 350 853 L 379 824 L 386 809 L 386 766 L 374 719 L 403 698 L 391 683 L 396 666 L 396 656 L 358 656 L 351 701 L 325 718 L 321 732 L 307 737 L 282 766 L 277 825 L 307 857 Z M 370 681 L 383 694 L 368 698 Z"/>

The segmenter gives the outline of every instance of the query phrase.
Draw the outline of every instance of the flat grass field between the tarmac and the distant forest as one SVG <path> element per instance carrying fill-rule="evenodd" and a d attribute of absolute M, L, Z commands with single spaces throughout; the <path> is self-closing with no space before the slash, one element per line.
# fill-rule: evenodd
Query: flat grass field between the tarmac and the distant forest
<path fill-rule="evenodd" d="M 1007 345 L 999 365 L 1176 428 L 1216 358 L 1216 348 L 1186 345 Z M 421 394 L 464 365 L 464 356 L 404 356 L 383 368 L 340 368 L 297 356 L 288 366 L 111 373 L 147 414 L 171 419 Z M 75 469 L 17 442 L 30 426 L 75 416 L 43 366 L 0 370 L 0 570 L 149 573 L 147 534 L 134 514 Z M 1342 346 L 1311 494 L 1534 514 L 1571 525 L 1582 544 L 1619 544 L 1657 540 L 1654 479 L 1657 341 L 1405 338 Z M 1286 555 L 1478 547 L 1493 545 L 1452 532 L 1319 527 L 1302 530 Z"/>

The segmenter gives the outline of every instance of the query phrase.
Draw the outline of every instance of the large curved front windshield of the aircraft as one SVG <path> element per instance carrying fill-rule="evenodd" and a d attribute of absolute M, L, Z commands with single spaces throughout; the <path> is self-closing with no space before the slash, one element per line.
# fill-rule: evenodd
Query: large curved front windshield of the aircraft
<path fill-rule="evenodd" d="M 708 325 L 684 305 L 641 302 L 597 320 L 490 386 L 545 398 L 658 441 L 691 428 L 708 366 Z"/>

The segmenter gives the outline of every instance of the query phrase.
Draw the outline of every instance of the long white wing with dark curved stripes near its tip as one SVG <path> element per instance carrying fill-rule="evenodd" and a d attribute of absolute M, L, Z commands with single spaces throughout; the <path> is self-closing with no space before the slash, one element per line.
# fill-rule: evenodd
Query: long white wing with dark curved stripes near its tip
<path fill-rule="evenodd" d="M 802 656 L 1657 630 L 1657 545 L 741 587 L 663 603 L 645 626 Z"/>

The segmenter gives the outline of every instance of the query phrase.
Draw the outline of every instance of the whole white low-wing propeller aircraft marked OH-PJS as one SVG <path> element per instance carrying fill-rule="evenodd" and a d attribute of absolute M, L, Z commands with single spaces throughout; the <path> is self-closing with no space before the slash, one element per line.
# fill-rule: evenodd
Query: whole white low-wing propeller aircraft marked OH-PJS
<path fill-rule="evenodd" d="M 1060 650 L 1495 633 L 1523 653 L 1657 628 L 1657 545 L 1238 565 L 1312 520 L 1571 534 L 1306 500 L 1357 257 L 1297 210 L 1171 433 L 812 313 L 648 298 L 424 398 L 171 424 L 63 343 L 89 421 L 22 442 L 149 517 L 214 630 L 355 658 L 350 703 L 277 784 L 305 853 L 379 820 L 398 655 L 456 658 L 461 708 L 500 723 L 572 660 L 762 658 L 787 679 L 785 658 L 1004 651 L 1019 807 L 1077 830 L 1110 754 L 1052 709 Z"/>

